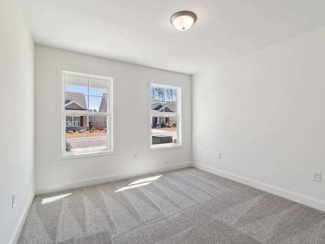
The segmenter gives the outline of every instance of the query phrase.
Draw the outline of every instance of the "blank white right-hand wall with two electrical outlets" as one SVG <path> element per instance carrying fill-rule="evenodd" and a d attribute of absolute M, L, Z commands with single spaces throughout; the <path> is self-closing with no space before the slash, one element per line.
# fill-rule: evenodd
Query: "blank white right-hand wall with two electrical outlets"
<path fill-rule="evenodd" d="M 194 166 L 325 210 L 324 43 L 325 27 L 194 75 Z"/>

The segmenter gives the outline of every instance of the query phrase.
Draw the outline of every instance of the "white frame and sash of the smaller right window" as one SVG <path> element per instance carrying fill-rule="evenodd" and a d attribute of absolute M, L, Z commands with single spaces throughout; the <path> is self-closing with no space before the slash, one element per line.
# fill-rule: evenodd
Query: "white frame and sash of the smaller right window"
<path fill-rule="evenodd" d="M 177 114 L 175 116 L 165 117 L 176 117 L 177 118 L 177 142 L 174 143 L 163 143 L 163 144 L 152 144 L 152 118 L 153 117 L 164 117 L 164 116 L 153 116 L 151 113 L 151 87 L 156 86 L 160 88 L 176 89 L 177 90 Z M 167 83 L 156 82 L 149 80 L 149 150 L 160 150 L 183 147 L 182 145 L 182 87 L 170 85 Z"/>

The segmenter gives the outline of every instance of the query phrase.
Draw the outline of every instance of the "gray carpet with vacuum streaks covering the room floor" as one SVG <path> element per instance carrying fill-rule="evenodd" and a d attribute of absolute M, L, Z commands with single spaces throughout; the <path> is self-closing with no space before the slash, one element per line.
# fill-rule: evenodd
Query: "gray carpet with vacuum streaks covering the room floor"
<path fill-rule="evenodd" d="M 17 243 L 325 243 L 325 212 L 193 167 L 134 182 L 158 175 L 36 196 Z"/>

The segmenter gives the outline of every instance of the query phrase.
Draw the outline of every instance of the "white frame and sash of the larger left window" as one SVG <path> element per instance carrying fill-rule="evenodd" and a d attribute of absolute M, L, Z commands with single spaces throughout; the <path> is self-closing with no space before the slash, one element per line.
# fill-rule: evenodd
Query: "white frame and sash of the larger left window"
<path fill-rule="evenodd" d="M 94 74 L 93 72 L 85 71 L 76 71 L 72 69 L 58 69 L 58 78 L 59 78 L 59 120 L 60 120 L 60 131 L 59 131 L 59 150 L 58 150 L 58 159 L 71 159 L 71 158 L 83 158 L 83 157 L 92 157 L 92 156 L 101 156 L 101 155 L 111 155 L 115 154 L 115 145 L 116 145 L 116 121 L 115 121 L 115 94 L 116 94 L 116 85 L 115 75 L 109 74 Z M 109 112 L 100 113 L 100 112 L 90 112 L 90 111 L 78 111 L 78 112 L 67 112 L 65 109 L 66 105 L 66 82 L 65 75 L 77 76 L 83 78 L 92 78 L 92 79 L 105 79 L 109 82 L 109 91 L 108 91 L 108 104 Z M 88 87 L 89 86 L 88 83 Z M 89 96 L 89 95 L 88 95 Z M 89 151 L 66 151 L 66 116 L 107 116 L 106 126 L 107 126 L 107 148 L 105 149 L 94 149 Z M 72 121 L 73 122 L 73 121 Z M 80 120 L 79 120 L 80 123 Z"/>

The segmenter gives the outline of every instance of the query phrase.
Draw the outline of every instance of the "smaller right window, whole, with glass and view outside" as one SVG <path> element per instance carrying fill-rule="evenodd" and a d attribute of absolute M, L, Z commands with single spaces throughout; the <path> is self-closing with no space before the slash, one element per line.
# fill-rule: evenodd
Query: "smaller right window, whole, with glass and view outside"
<path fill-rule="evenodd" d="M 181 88 L 151 83 L 151 148 L 181 146 Z"/>

